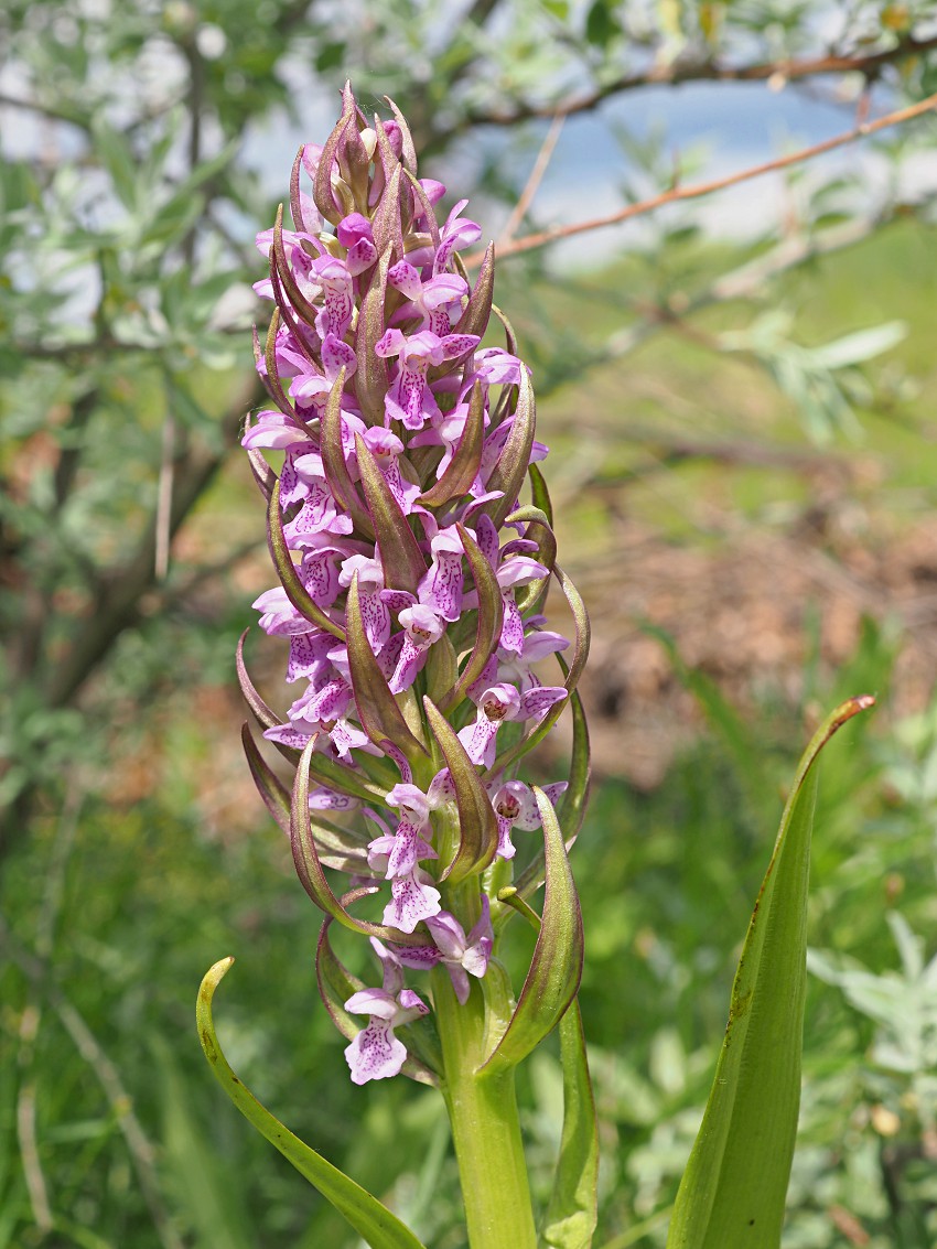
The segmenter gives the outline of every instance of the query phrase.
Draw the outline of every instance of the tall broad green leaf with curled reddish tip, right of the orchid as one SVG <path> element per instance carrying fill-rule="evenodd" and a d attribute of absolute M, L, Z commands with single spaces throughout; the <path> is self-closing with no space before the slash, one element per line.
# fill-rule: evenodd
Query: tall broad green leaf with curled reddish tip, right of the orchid
<path fill-rule="evenodd" d="M 807 747 L 738 960 L 728 1025 L 668 1249 L 777 1249 L 797 1133 L 817 756 L 875 702 L 851 698 Z"/>

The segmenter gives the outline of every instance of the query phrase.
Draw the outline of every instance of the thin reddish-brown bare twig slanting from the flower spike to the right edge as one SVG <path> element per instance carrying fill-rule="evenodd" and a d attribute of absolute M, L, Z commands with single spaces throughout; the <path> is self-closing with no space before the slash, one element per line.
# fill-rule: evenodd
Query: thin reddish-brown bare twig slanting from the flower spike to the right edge
<path fill-rule="evenodd" d="M 591 221 L 577 221 L 568 226 L 553 226 L 550 230 L 541 230 L 538 234 L 527 235 L 525 239 L 517 239 L 515 242 L 510 242 L 501 249 L 498 259 L 503 260 L 506 256 L 516 256 L 525 251 L 532 251 L 536 247 L 545 247 L 547 244 L 556 242 L 560 239 L 572 239 L 591 230 L 601 230 L 603 226 L 618 225 L 622 221 L 630 221 L 632 217 L 638 217 L 646 212 L 652 212 L 655 209 L 663 207 L 666 204 L 677 204 L 682 200 L 698 200 L 703 195 L 712 195 L 713 191 L 723 191 L 730 186 L 737 186 L 740 182 L 761 177 L 763 174 L 773 174 L 781 169 L 790 169 L 792 165 L 801 165 L 803 161 L 813 160 L 816 156 L 836 151 L 837 147 L 853 144 L 858 139 L 867 139 L 880 130 L 900 126 L 913 117 L 932 112 L 935 109 L 937 109 L 937 94 L 930 95 L 926 100 L 912 104 L 907 109 L 897 109 L 895 112 L 888 112 L 875 121 L 865 121 L 852 130 L 846 131 L 846 134 L 836 135 L 833 139 L 825 139 L 823 142 L 813 144 L 810 147 L 800 147 L 795 152 L 788 152 L 786 156 L 777 156 L 775 160 L 765 161 L 761 165 L 751 165 L 748 169 L 740 170 L 736 174 L 716 177 L 708 182 L 697 182 L 695 186 L 673 186 L 650 200 L 628 204 L 626 207 L 608 216 L 593 217 Z M 466 257 L 465 264 L 467 269 L 477 269 L 481 261 L 482 252 L 475 252 Z"/>

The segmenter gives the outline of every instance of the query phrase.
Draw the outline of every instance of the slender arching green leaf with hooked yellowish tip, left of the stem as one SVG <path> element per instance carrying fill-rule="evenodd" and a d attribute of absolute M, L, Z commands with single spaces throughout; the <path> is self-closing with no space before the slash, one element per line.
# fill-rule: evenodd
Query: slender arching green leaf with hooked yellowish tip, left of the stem
<path fill-rule="evenodd" d="M 196 1004 L 199 1039 L 225 1093 L 247 1122 L 347 1219 L 371 1249 L 424 1249 L 414 1233 L 396 1215 L 391 1214 L 377 1198 L 356 1184 L 344 1172 L 340 1172 L 337 1167 L 332 1167 L 299 1137 L 295 1137 L 257 1102 L 247 1085 L 232 1072 L 215 1033 L 211 1013 L 215 990 L 232 962 L 232 958 L 224 958 L 210 968 L 199 988 Z"/>

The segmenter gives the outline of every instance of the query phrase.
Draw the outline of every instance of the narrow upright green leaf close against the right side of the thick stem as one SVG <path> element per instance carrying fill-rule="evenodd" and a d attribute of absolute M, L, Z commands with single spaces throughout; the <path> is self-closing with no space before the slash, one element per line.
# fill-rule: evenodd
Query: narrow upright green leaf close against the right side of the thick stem
<path fill-rule="evenodd" d="M 560 1020 L 558 1033 L 563 1127 L 541 1239 L 550 1249 L 590 1249 L 598 1222 L 598 1124 L 578 1002 Z"/>

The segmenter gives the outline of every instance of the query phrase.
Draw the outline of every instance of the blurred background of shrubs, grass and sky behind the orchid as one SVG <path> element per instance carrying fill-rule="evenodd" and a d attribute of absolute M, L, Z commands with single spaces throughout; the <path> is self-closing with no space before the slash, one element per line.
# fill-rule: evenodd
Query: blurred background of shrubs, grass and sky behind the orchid
<path fill-rule="evenodd" d="M 925 99 L 937 5 L 7 0 L 0 37 L 0 1249 L 352 1243 L 204 1064 L 229 953 L 235 1067 L 459 1249 L 441 1103 L 347 1080 L 240 758 L 232 652 L 271 581 L 235 450 L 252 235 L 346 76 L 503 240 Z M 785 1245 L 937 1243 L 933 139 L 500 266 L 596 622 L 575 868 L 607 1249 L 663 1244 L 782 786 L 866 691 L 823 762 Z M 251 662 L 275 689 L 277 647 Z M 542 1197 L 548 1049 L 523 1095 Z"/>

